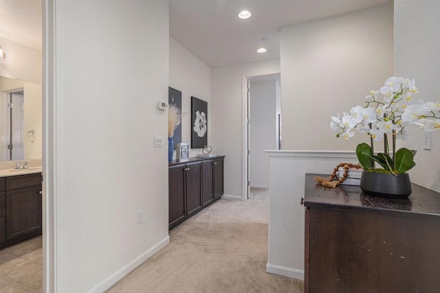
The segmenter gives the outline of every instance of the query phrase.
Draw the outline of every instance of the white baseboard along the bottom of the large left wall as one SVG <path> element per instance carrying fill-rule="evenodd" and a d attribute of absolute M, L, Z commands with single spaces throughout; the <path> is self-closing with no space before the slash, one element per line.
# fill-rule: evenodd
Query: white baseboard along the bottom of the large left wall
<path fill-rule="evenodd" d="M 153 256 L 156 252 L 161 250 L 166 246 L 166 244 L 170 243 L 170 237 L 167 236 L 165 239 L 157 243 L 152 248 L 146 250 L 142 254 L 140 254 L 139 257 L 136 257 L 133 259 L 133 261 L 127 263 L 122 267 L 120 270 L 109 276 L 107 279 L 96 285 L 93 289 L 91 289 L 89 292 L 104 292 L 105 290 L 109 289 L 112 285 L 114 285 L 116 282 L 118 282 L 120 279 L 122 279 L 124 276 L 129 274 L 132 270 L 137 268 L 139 265 L 141 265 L 144 261 L 149 259 Z"/>

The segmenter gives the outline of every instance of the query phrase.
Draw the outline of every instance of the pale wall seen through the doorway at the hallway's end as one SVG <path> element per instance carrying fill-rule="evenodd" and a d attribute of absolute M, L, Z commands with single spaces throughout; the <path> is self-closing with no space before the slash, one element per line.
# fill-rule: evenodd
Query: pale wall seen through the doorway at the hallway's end
<path fill-rule="evenodd" d="M 250 186 L 269 187 L 267 149 L 276 149 L 276 80 L 250 83 Z"/>

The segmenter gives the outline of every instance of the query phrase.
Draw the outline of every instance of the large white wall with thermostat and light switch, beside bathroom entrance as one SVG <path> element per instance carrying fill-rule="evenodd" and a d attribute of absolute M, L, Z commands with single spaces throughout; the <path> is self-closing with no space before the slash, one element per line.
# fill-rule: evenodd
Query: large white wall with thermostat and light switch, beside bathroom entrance
<path fill-rule="evenodd" d="M 167 137 L 156 102 L 168 97 L 168 1 L 46 5 L 53 290 L 103 292 L 169 241 L 168 152 L 153 147 L 153 135 Z"/>

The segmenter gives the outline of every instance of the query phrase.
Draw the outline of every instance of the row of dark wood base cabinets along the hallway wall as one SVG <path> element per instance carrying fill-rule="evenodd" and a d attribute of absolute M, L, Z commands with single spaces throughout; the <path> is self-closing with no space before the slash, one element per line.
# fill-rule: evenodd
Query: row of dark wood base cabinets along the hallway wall
<path fill-rule="evenodd" d="M 223 156 L 190 158 L 168 167 L 168 228 L 183 221 L 223 195 Z"/>

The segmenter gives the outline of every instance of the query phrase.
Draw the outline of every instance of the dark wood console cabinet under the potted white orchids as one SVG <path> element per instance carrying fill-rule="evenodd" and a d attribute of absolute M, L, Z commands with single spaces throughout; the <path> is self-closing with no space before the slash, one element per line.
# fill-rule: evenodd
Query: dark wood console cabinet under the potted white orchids
<path fill-rule="evenodd" d="M 303 203 L 305 292 L 440 292 L 440 193 L 382 199 L 306 174 Z"/>

